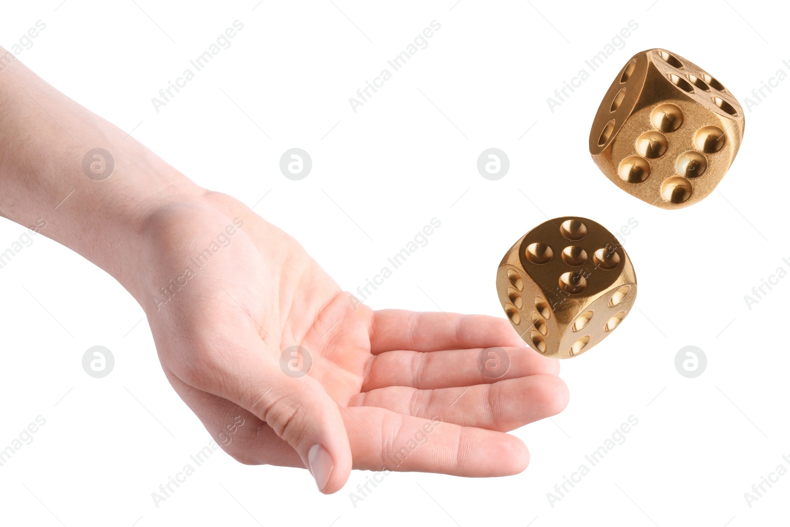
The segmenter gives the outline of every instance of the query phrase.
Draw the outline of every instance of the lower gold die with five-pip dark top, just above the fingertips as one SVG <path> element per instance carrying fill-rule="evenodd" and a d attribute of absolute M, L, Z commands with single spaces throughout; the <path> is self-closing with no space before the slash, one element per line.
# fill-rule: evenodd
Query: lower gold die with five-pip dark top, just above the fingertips
<path fill-rule="evenodd" d="M 611 232 L 586 218 L 548 220 L 510 247 L 497 271 L 507 318 L 541 355 L 567 359 L 602 341 L 634 305 L 634 266 Z"/>

